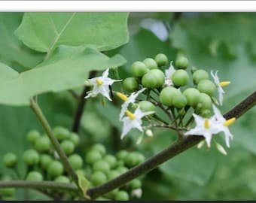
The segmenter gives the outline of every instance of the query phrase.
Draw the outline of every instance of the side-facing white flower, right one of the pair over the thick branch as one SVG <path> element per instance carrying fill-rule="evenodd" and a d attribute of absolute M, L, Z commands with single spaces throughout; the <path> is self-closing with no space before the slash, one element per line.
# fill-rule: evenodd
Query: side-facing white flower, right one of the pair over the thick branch
<path fill-rule="evenodd" d="M 230 126 L 230 124 L 232 124 L 236 120 L 236 118 L 226 120 L 222 116 L 221 111 L 219 111 L 218 108 L 215 107 L 215 105 L 212 105 L 212 108 L 215 113 L 213 116 L 215 118 L 215 125 L 217 126 L 219 132 L 224 132 L 226 145 L 227 147 L 230 147 L 230 140 L 233 139 L 233 135 L 228 129 L 228 126 Z"/>

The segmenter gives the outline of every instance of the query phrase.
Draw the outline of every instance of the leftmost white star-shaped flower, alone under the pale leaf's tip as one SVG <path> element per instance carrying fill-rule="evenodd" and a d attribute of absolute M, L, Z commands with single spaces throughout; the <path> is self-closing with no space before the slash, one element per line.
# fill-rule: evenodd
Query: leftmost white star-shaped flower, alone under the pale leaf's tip
<path fill-rule="evenodd" d="M 113 80 L 109 78 L 108 69 L 103 72 L 102 77 L 93 77 L 92 79 L 89 79 L 89 82 L 93 84 L 93 90 L 84 98 L 89 98 L 90 96 L 94 97 L 98 94 L 102 94 L 103 96 L 108 98 L 108 100 L 112 101 L 109 97 L 109 86 L 114 82 L 121 80 Z"/>

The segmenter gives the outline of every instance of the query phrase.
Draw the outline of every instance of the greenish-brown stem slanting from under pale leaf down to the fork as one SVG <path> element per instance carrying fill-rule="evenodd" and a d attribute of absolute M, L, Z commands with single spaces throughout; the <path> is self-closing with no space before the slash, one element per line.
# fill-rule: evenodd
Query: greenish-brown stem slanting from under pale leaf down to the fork
<path fill-rule="evenodd" d="M 44 117 L 44 114 L 41 111 L 41 108 L 39 107 L 38 103 L 35 102 L 34 99 L 30 100 L 30 107 L 34 111 L 36 117 L 38 117 L 38 120 L 40 121 L 41 126 L 43 126 L 45 132 L 50 138 L 50 141 L 52 142 L 54 149 L 58 153 L 59 159 L 61 160 L 62 164 L 66 168 L 66 171 L 69 173 L 70 177 L 72 177 L 72 180 L 74 180 L 74 182 L 78 185 L 78 176 L 77 174 L 75 174 L 75 170 L 72 168 L 72 165 L 70 165 L 69 159 L 67 158 L 66 154 L 63 152 L 62 148 L 60 147 L 59 141 L 53 135 L 53 130 L 50 128 L 50 125 L 47 122 L 46 117 Z"/>

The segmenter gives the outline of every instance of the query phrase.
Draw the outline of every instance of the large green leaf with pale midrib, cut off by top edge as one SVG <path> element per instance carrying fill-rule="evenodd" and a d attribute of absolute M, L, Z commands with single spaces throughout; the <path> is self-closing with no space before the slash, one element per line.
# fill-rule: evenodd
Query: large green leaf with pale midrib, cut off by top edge
<path fill-rule="evenodd" d="M 127 13 L 26 13 L 16 31 L 28 47 L 51 53 L 59 45 L 111 50 L 128 41 Z"/>

